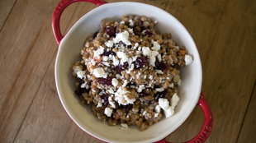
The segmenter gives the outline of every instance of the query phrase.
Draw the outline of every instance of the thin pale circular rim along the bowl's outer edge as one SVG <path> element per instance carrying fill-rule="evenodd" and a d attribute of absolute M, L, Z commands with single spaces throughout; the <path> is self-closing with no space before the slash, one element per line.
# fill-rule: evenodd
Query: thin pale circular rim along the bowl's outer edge
<path fill-rule="evenodd" d="M 79 18 L 78 21 L 76 21 L 72 26 L 71 28 L 69 29 L 69 31 L 67 32 L 66 35 L 64 35 L 64 38 L 60 41 L 59 43 L 59 47 L 58 47 L 58 52 L 57 52 L 57 56 L 56 56 L 56 59 L 55 59 L 55 84 L 56 84 L 56 89 L 57 89 L 57 92 L 58 92 L 58 95 L 59 95 L 59 99 L 61 101 L 61 104 L 63 105 L 66 113 L 68 113 L 69 115 L 69 118 L 71 118 L 73 120 L 73 122 L 75 122 L 79 128 L 81 128 L 83 131 L 87 132 L 90 136 L 93 136 L 95 138 L 97 138 L 98 140 L 101 140 L 101 141 L 110 141 L 109 139 L 105 138 L 104 136 L 99 136 L 97 135 L 97 132 L 95 131 L 88 131 L 86 128 L 84 128 L 77 120 L 77 118 L 74 118 L 73 117 L 73 113 L 72 111 L 70 111 L 69 107 L 66 105 L 66 103 L 64 102 L 64 99 L 63 99 L 63 94 L 61 94 L 60 92 L 60 87 L 59 87 L 59 76 L 58 76 L 58 71 L 59 71 L 59 57 L 61 55 L 61 51 L 65 44 L 65 41 L 66 39 L 69 38 L 69 35 L 71 35 L 71 33 L 73 32 L 73 30 L 81 23 L 83 22 L 84 19 L 86 19 L 88 16 L 90 15 L 93 15 L 93 13 L 97 12 L 98 10 L 102 9 L 102 8 L 106 8 L 106 7 L 113 7 L 113 6 L 118 6 L 120 4 L 129 4 L 129 7 L 131 4 L 135 4 L 135 5 L 141 5 L 143 7 L 151 7 L 151 8 L 154 8 L 156 10 L 158 10 L 159 12 L 161 13 L 165 13 L 167 14 L 168 16 L 171 16 L 173 18 L 174 21 L 177 21 L 178 24 L 181 26 L 181 28 L 183 28 L 183 30 L 185 30 L 187 32 L 187 38 L 189 40 L 192 41 L 192 45 L 193 45 L 193 48 L 195 48 L 195 52 L 197 53 L 198 55 L 198 64 L 199 64 L 199 73 L 198 73 L 198 78 L 199 78 L 199 81 L 202 82 L 202 70 L 201 70 L 201 58 L 200 58 L 200 54 L 198 53 L 198 50 L 197 50 L 197 45 L 195 44 L 194 40 L 192 39 L 192 36 L 189 34 L 189 32 L 187 31 L 187 29 L 185 28 L 185 26 L 180 22 L 178 21 L 178 19 L 176 17 L 174 17 L 173 15 L 171 15 L 170 13 L 164 11 L 163 9 L 159 8 L 159 7 L 155 7 L 153 5 L 150 5 L 150 4 L 146 4 L 146 3 L 142 3 L 142 2 L 111 2 L 111 3 L 106 3 L 106 4 L 103 4 L 101 5 L 100 7 L 95 7 L 93 8 L 90 12 L 88 13 L 85 13 L 82 17 Z M 198 67 L 198 68 L 199 68 Z M 199 84 L 199 89 L 197 89 L 197 92 L 195 91 L 195 93 L 197 93 L 197 102 L 198 102 L 198 99 L 200 98 L 200 92 L 201 92 L 201 82 L 198 83 Z M 192 113 L 192 110 L 195 108 L 195 106 L 197 105 L 197 102 L 193 103 L 191 108 L 187 108 L 187 114 L 185 114 L 186 116 L 183 117 L 181 119 L 181 123 L 176 126 L 176 127 L 173 127 L 173 130 L 168 130 L 166 131 L 164 134 L 162 134 L 161 136 L 158 136 L 158 137 L 154 137 L 154 138 L 151 138 L 149 140 L 145 140 L 145 141 L 140 141 L 140 142 L 154 142 L 154 141 L 159 141 L 159 140 L 162 140 L 164 139 L 166 136 L 168 136 L 169 134 L 171 134 L 173 131 L 177 130 L 178 127 L 182 126 L 183 123 L 187 120 L 187 118 L 190 116 L 190 114 Z M 110 141 L 112 142 L 112 141 Z M 126 141 L 126 142 L 129 142 L 129 141 Z M 131 141 L 133 142 L 133 141 Z"/>

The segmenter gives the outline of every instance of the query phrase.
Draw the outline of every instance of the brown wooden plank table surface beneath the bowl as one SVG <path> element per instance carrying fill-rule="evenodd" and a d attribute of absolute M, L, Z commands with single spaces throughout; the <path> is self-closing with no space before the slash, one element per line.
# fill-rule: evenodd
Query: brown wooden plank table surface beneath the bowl
<path fill-rule="evenodd" d="M 108 2 L 117 2 L 107 0 Z M 60 104 L 54 66 L 58 46 L 51 13 L 59 0 L 0 0 L 0 142 L 101 142 L 74 124 Z M 176 16 L 197 44 L 206 101 L 214 127 L 206 141 L 256 141 L 256 1 L 137 0 Z M 86 2 L 68 7 L 63 31 L 92 10 Z M 195 108 L 168 141 L 186 141 L 202 125 Z"/>

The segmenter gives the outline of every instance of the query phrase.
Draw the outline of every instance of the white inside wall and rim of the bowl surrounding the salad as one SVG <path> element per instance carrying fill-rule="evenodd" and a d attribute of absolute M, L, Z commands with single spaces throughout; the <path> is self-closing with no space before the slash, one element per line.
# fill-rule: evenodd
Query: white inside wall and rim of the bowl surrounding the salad
<path fill-rule="evenodd" d="M 85 38 L 98 30 L 102 19 L 106 17 L 116 19 L 127 14 L 149 16 L 159 21 L 160 32 L 171 33 L 173 40 L 178 45 L 185 46 L 194 58 L 192 65 L 182 69 L 180 102 L 175 108 L 175 114 L 171 118 L 164 118 L 145 131 L 139 131 L 135 127 L 121 130 L 120 126 L 107 126 L 107 123 L 100 122 L 94 117 L 89 108 L 80 104 L 79 99 L 74 95 L 75 86 L 71 69 L 73 62 L 80 58 L 80 50 L 84 46 Z M 55 62 L 55 81 L 65 110 L 83 131 L 108 142 L 153 142 L 175 131 L 192 113 L 201 91 L 201 61 L 192 37 L 168 12 L 139 2 L 115 2 L 104 4 L 88 12 L 64 36 L 59 44 Z"/>

